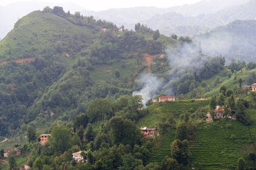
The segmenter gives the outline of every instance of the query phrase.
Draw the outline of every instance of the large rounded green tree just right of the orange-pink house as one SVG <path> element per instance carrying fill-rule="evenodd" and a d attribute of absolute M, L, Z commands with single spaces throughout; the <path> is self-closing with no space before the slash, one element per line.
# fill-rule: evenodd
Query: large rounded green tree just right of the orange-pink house
<path fill-rule="evenodd" d="M 56 154 L 67 151 L 72 146 L 72 131 L 63 125 L 54 126 L 49 137 L 50 147 Z"/>

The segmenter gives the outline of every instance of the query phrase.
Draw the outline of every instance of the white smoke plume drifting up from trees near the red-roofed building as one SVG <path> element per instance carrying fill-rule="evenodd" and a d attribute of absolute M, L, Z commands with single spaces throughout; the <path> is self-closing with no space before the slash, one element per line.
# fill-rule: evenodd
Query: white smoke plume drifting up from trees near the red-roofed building
<path fill-rule="evenodd" d="M 175 83 L 179 83 L 180 77 L 190 68 L 200 69 L 207 62 L 207 60 L 202 60 L 198 48 L 193 44 L 170 47 L 165 53 L 171 66 L 166 77 L 157 77 L 155 74 L 144 72 L 136 80 L 139 90 L 133 92 L 132 95 L 142 95 L 144 106 L 150 98 L 160 93 L 175 95 L 176 89 L 173 87 Z"/>

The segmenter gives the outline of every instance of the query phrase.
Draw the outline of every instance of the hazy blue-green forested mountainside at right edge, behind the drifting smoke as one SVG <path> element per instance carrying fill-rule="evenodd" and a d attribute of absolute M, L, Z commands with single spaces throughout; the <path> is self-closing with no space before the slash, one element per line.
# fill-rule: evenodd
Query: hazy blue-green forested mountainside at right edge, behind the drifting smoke
<path fill-rule="evenodd" d="M 237 20 L 227 26 L 194 38 L 201 42 L 202 51 L 207 55 L 224 55 L 245 62 L 255 61 L 256 20 Z"/>

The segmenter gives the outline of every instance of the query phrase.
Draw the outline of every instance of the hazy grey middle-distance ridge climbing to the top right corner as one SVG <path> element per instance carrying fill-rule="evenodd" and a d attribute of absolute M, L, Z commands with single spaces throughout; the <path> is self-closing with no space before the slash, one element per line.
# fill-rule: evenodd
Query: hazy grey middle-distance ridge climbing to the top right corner
<path fill-rule="evenodd" d="M 228 7 L 215 13 L 200 14 L 194 17 L 184 17 L 174 12 L 155 15 L 149 20 L 143 20 L 153 29 L 159 29 L 164 35 L 175 33 L 178 35 L 199 35 L 208 32 L 217 26 L 234 20 L 252 20 L 256 16 L 256 0 L 251 0 L 245 4 Z"/>

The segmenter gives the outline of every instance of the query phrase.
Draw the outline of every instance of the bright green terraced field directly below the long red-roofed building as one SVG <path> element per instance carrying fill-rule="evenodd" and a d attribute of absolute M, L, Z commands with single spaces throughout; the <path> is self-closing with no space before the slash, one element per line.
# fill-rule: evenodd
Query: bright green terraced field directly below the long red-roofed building
<path fill-rule="evenodd" d="M 191 108 L 193 112 L 199 107 L 205 107 L 209 104 L 209 100 L 205 101 L 175 101 L 175 102 L 160 102 L 153 104 L 148 107 L 149 114 L 141 118 L 137 122 L 137 127 L 148 126 L 152 127 L 162 121 L 163 118 L 168 118 L 170 115 L 174 115 L 178 118 L 180 114 L 184 111 L 189 111 Z"/>

